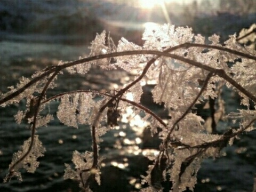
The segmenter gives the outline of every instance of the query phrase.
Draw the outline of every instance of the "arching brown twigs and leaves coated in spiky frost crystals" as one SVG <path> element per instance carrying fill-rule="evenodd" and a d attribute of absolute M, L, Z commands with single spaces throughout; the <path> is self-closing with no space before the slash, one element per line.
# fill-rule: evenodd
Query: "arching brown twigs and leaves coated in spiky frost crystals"
<path fill-rule="evenodd" d="M 250 29 L 251 31 L 251 29 Z M 242 35 L 246 37 L 246 30 Z M 250 33 L 251 35 L 251 33 Z M 254 36 L 255 37 L 255 36 Z M 141 111 L 150 122 L 151 133 L 162 139 L 157 156 L 149 165 L 147 175 L 142 175 L 141 191 L 162 191 L 162 182 L 170 180 L 170 191 L 193 190 L 196 175 L 204 158 L 218 157 L 220 150 L 233 142 L 245 131 L 254 130 L 256 120 L 256 54 L 249 46 L 237 41 L 231 35 L 223 44 L 218 35 L 205 38 L 195 35 L 191 28 L 163 25 L 147 28 L 142 37 L 143 46 L 121 38 L 118 45 L 106 31 L 98 34 L 89 47 L 88 57 L 71 62 L 60 62 L 58 66 L 47 67 L 31 78 L 22 78 L 17 86 L 1 95 L 0 105 L 5 107 L 26 99 L 27 109 L 15 115 L 17 123 L 26 120 L 31 137 L 21 150 L 14 153 L 5 182 L 13 177 L 21 179 L 20 169 L 34 173 L 45 148 L 36 131 L 46 126 L 53 116 L 43 115 L 46 103 L 58 101 L 57 117 L 60 122 L 78 128 L 81 124 L 91 126 L 92 151 L 74 151 L 74 166 L 66 164 L 65 179 L 77 179 L 85 191 L 91 191 L 90 181 L 100 185 L 99 146 L 101 136 L 113 126 L 118 126 L 122 114 L 134 108 L 134 115 Z M 250 36 L 255 41 L 255 38 Z M 239 38 L 244 43 L 244 39 Z M 71 74 L 83 74 L 97 65 L 104 70 L 123 69 L 135 74 L 130 84 L 109 93 L 97 90 L 76 90 L 63 92 L 53 97 L 47 89 L 58 86 L 54 80 L 62 70 Z M 142 85 L 154 81 L 153 99 L 169 111 L 169 119 L 161 119 L 140 104 Z M 225 113 L 221 98 L 223 86 L 241 96 L 241 105 L 247 109 Z M 226 88 L 227 89 L 227 88 Z M 37 96 L 35 96 L 37 95 Z M 100 98 L 100 99 L 99 99 Z M 208 101 L 208 102 L 207 102 Z M 213 105 L 210 102 L 214 102 Z M 211 124 L 195 111 L 195 105 L 206 102 L 211 105 Z M 219 121 L 239 122 L 238 129 L 227 127 L 227 131 L 216 134 Z M 211 131 L 209 131 L 209 127 Z M 143 127 L 141 127 L 143 128 Z M 215 132 L 214 132 L 215 130 Z M 74 167 L 74 168 L 73 168 Z"/>

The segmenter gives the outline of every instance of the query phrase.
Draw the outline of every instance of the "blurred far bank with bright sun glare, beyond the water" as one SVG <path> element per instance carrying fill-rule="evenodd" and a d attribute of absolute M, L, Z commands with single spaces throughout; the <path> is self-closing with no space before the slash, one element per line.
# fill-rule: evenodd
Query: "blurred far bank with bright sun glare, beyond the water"
<path fill-rule="evenodd" d="M 103 29 L 140 43 L 145 26 L 172 23 L 195 33 L 235 33 L 255 19 L 250 0 L 1 1 L 1 39 L 88 44 Z M 232 26 L 233 25 L 233 26 Z M 30 35 L 30 36 L 29 36 Z"/>

